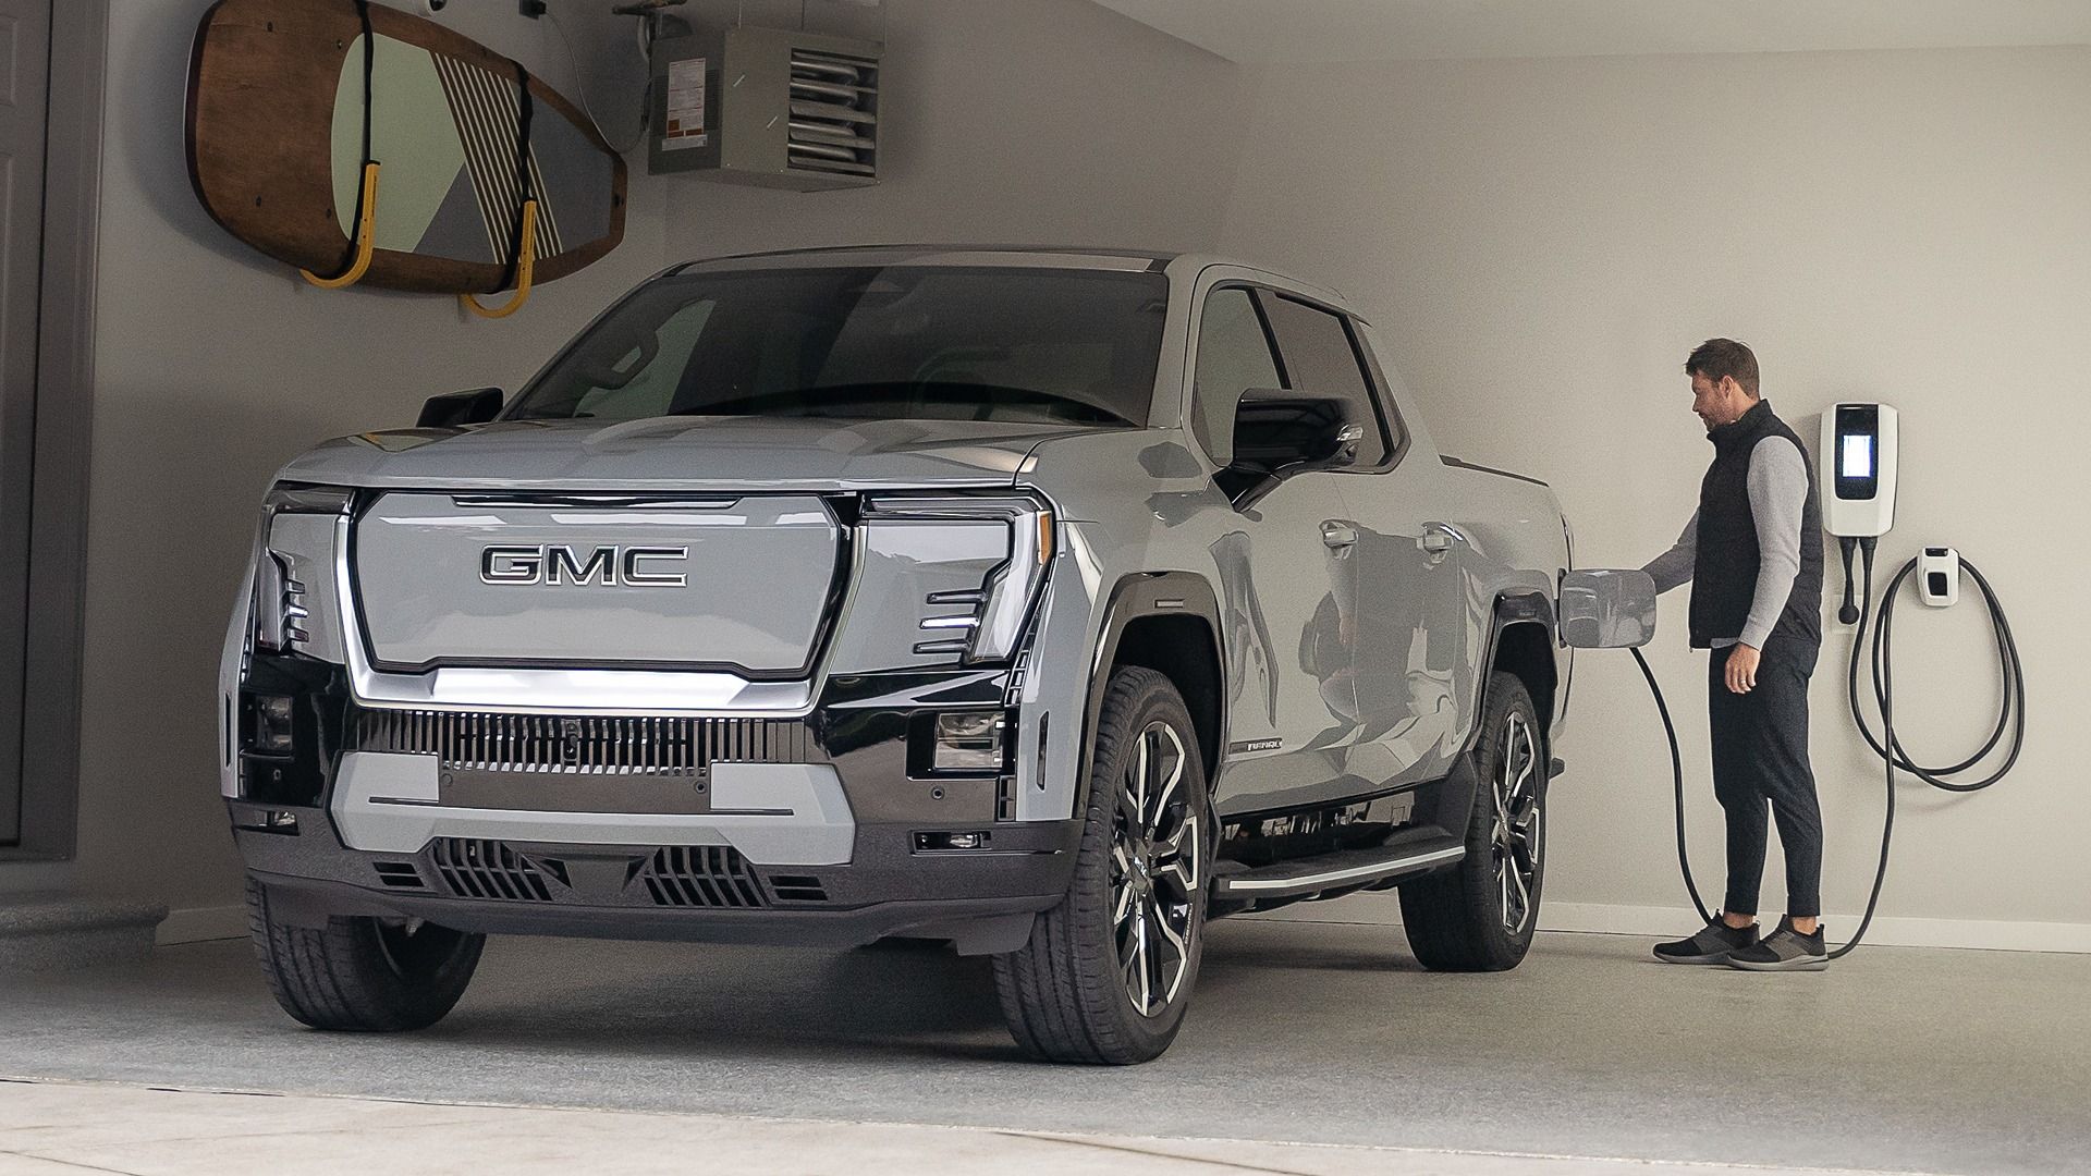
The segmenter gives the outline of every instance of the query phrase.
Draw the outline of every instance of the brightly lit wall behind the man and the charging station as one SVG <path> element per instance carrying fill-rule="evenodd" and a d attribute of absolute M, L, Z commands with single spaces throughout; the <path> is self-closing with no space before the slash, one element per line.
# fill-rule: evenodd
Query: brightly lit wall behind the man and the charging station
<path fill-rule="evenodd" d="M 2070 720 L 2091 634 L 2055 611 L 2091 571 L 2072 429 L 2091 50 L 1280 67 L 1255 109 L 1223 245 L 1372 308 L 1445 450 L 1549 479 L 1587 565 L 1639 565 L 1690 515 L 1710 450 L 1679 368 L 1700 339 L 1752 343 L 1765 393 L 1809 435 L 1836 400 L 1901 406 L 1882 563 L 1920 544 L 1976 561 L 2018 624 L 2032 699 L 2005 785 L 1905 787 L 1884 935 L 2091 950 L 2091 789 Z M 1683 603 L 1667 598 L 1652 661 L 1719 900 L 1706 670 L 1683 649 Z M 1871 883 L 1882 781 L 1844 709 L 1848 636 L 1828 613 L 1813 747 L 1836 937 Z M 1978 747 L 1997 703 L 1978 605 L 1903 617 L 1911 749 Z M 1552 923 L 1671 927 L 1669 762 L 1631 659 L 1583 655 L 1572 718 Z M 1773 856 L 1773 912 L 1779 879 Z"/>

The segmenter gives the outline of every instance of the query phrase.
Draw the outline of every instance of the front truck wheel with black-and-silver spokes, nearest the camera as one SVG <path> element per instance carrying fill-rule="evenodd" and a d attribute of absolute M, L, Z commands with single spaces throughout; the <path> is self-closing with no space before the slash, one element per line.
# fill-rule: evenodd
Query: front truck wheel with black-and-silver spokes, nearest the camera
<path fill-rule="evenodd" d="M 1169 678 L 1110 676 L 1085 795 L 1069 891 L 995 956 L 995 992 L 1031 1057 L 1131 1065 L 1175 1040 L 1204 954 L 1213 799 Z"/>

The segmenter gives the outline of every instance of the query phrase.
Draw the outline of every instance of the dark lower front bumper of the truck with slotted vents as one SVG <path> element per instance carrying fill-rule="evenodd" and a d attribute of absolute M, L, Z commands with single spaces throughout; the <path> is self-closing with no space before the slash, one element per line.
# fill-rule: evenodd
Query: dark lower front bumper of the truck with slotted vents
<path fill-rule="evenodd" d="M 272 914 L 297 925 L 378 914 L 506 935 L 822 946 L 918 935 L 966 954 L 1022 946 L 1031 917 L 1066 891 L 1081 839 L 1071 820 L 997 829 L 993 852 L 920 854 L 905 827 L 859 827 L 855 858 L 820 868 L 755 866 L 730 847 L 470 841 L 374 854 L 343 847 L 324 810 L 228 808 Z M 297 833 L 257 829 L 263 812 L 293 814 Z"/>

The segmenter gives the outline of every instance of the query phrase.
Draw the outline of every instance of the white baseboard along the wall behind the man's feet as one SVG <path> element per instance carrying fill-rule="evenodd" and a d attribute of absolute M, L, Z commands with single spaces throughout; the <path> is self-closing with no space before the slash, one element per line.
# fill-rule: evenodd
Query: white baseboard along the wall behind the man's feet
<path fill-rule="evenodd" d="M 1600 902 L 1545 902 L 1539 908 L 1545 931 L 1595 935 L 1675 937 L 1698 925 L 1698 912 L 1681 906 L 1610 906 Z M 1255 919 L 1303 923 L 1368 923 L 1399 927 L 1401 900 L 1393 891 L 1353 894 L 1334 902 L 1301 902 Z M 1853 933 L 1857 914 L 1823 917 L 1830 940 Z M 1882 948 L 1978 948 L 1991 952 L 2091 954 L 2091 923 L 2005 923 L 1986 919 L 1874 919 L 1865 942 Z"/>

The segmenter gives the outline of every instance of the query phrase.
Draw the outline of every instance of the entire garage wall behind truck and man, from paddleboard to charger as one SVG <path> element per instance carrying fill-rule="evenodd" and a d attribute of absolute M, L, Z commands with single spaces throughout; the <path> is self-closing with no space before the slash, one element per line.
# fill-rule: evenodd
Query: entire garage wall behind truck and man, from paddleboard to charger
<path fill-rule="evenodd" d="M 312 439 L 408 421 L 431 391 L 512 387 L 669 259 L 864 241 L 1219 245 L 1372 308 L 1445 448 L 1552 479 L 1585 563 L 1639 563 L 1690 511 L 1704 442 L 1677 364 L 1698 339 L 1754 343 L 1769 395 L 1802 427 L 1840 398 L 1901 404 L 1911 479 L 1882 555 L 1953 542 L 2005 590 L 2032 747 L 1991 795 L 1905 793 L 1886 931 L 2016 944 L 2047 923 L 2091 940 L 2074 837 L 2091 793 L 2066 760 L 2091 638 L 2045 615 L 2091 538 L 2068 508 L 2081 462 L 2051 427 L 2074 404 L 2070 343 L 2091 318 L 2091 50 L 1242 71 L 1087 0 L 893 0 L 884 15 L 815 0 L 813 27 L 889 40 L 880 186 L 792 195 L 636 174 L 617 255 L 479 322 L 445 299 L 312 291 L 220 232 L 180 151 L 205 0 L 113 4 L 69 870 L 82 887 L 176 908 L 236 900 L 211 668 L 255 500 Z M 554 4 L 608 86 L 629 25 L 596 2 Z M 746 8 L 776 23 L 799 6 Z M 573 94 L 550 27 L 506 0 L 452 10 Z M 619 98 L 598 94 L 598 109 L 623 113 Z M 1654 659 L 1683 718 L 1694 847 L 1715 885 L 1702 665 L 1681 649 L 1681 596 L 1664 624 Z M 1976 611 L 1911 611 L 1905 632 L 1917 751 L 1982 734 L 1997 686 Z M 1880 783 L 1842 716 L 1842 655 L 1832 636 L 1815 749 L 1830 910 L 1848 927 Z M 1667 762 L 1639 691 L 1623 655 L 1583 659 L 1552 835 L 1558 925 L 1667 927 L 1681 902 Z M 52 877 L 8 868 L 0 887 Z M 1773 860 L 1767 906 L 1777 885 Z"/>

